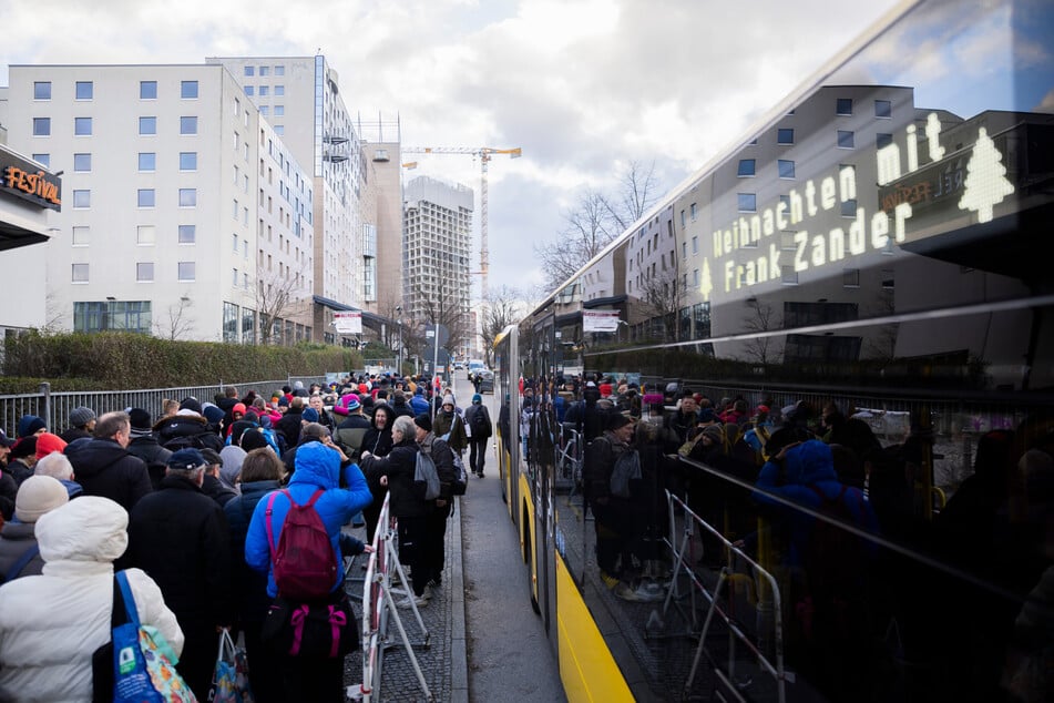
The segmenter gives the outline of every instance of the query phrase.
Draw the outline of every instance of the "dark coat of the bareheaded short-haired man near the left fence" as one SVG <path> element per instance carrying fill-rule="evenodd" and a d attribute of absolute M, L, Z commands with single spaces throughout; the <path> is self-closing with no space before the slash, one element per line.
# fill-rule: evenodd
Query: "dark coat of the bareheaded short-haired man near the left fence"
<path fill-rule="evenodd" d="M 102 496 L 132 512 L 141 498 L 151 492 L 146 465 L 113 439 L 92 439 L 66 447 L 73 476 L 85 496 Z"/>

